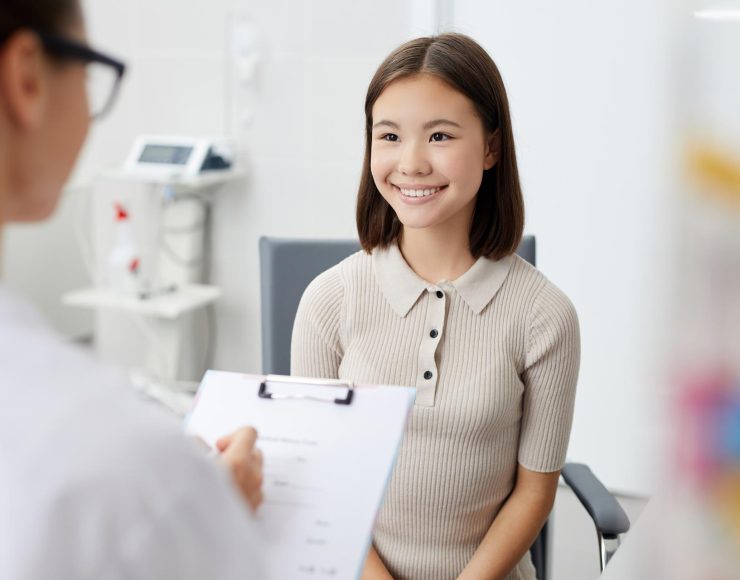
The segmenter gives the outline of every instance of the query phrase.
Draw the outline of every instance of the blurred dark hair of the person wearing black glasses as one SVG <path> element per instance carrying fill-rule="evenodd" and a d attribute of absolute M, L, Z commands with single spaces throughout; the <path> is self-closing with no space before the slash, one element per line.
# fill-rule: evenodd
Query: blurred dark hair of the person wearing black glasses
<path fill-rule="evenodd" d="M 79 0 L 2 0 L 0 43 L 24 28 L 46 34 L 61 34 L 81 19 Z"/>

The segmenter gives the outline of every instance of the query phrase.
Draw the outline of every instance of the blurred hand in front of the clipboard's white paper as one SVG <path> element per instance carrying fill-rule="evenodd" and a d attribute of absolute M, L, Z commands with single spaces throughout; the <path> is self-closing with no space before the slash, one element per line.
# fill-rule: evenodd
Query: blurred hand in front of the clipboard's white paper
<path fill-rule="evenodd" d="M 252 427 L 243 427 L 216 441 L 219 460 L 229 469 L 234 483 L 253 511 L 263 499 L 262 452 L 254 446 L 256 441 L 257 431 Z"/>

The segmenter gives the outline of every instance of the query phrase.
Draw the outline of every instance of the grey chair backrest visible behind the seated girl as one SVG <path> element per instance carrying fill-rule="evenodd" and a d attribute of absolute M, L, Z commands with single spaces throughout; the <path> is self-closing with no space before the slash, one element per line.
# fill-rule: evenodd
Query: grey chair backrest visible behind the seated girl
<path fill-rule="evenodd" d="M 290 374 L 290 341 L 303 291 L 321 272 L 359 249 L 357 240 L 260 238 L 264 374 Z M 536 250 L 535 237 L 524 236 L 517 254 L 534 266 Z M 530 549 L 539 580 L 547 579 L 547 541 L 545 523 Z"/>

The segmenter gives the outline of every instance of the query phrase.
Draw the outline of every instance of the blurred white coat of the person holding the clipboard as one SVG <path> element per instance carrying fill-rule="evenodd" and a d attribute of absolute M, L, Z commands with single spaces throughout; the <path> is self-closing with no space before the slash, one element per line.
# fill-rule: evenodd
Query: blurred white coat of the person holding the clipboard
<path fill-rule="evenodd" d="M 260 580 L 229 474 L 0 285 L 0 578 Z"/>

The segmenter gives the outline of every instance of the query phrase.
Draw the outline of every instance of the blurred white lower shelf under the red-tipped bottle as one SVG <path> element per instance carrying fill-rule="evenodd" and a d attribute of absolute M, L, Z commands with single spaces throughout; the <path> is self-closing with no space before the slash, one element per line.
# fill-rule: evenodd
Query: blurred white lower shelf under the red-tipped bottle
<path fill-rule="evenodd" d="M 77 308 L 119 310 L 174 320 L 186 312 L 212 304 L 220 297 L 221 289 L 217 286 L 186 284 L 174 292 L 146 300 L 105 288 L 84 288 L 65 294 L 62 303 Z"/>

